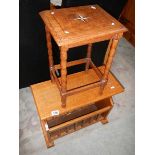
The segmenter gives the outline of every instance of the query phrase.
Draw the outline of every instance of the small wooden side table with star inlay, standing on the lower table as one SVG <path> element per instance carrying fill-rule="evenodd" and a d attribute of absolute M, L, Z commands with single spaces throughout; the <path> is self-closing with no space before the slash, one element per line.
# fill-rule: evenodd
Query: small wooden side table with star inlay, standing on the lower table
<path fill-rule="evenodd" d="M 67 96 L 81 91 L 99 87 L 99 94 L 101 95 L 108 81 L 109 70 L 118 41 L 127 29 L 98 5 L 47 10 L 40 12 L 40 16 L 45 23 L 51 80 L 56 82 L 60 91 L 62 107 L 66 107 Z M 59 65 L 54 65 L 51 36 L 60 48 L 61 63 Z M 103 63 L 104 71 L 101 72 L 91 60 L 91 50 L 92 43 L 104 40 L 110 40 L 110 43 Z M 69 48 L 86 44 L 88 44 L 86 58 L 67 62 Z M 91 67 L 98 76 L 98 80 L 69 89 L 67 67 L 83 63 L 86 64 L 85 74 Z M 55 74 L 58 69 L 61 70 L 60 80 Z"/>

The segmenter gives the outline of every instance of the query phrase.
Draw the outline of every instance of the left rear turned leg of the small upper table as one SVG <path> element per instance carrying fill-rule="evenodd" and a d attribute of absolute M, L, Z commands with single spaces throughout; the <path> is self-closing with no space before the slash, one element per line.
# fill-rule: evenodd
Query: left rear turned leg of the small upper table
<path fill-rule="evenodd" d="M 54 78 L 52 76 L 51 70 L 53 69 L 54 62 L 53 62 L 51 34 L 50 34 L 47 26 L 45 26 L 45 31 L 46 31 L 46 41 L 47 41 L 47 49 L 48 49 L 48 62 L 49 62 L 50 77 L 51 77 L 51 81 L 53 81 Z"/>

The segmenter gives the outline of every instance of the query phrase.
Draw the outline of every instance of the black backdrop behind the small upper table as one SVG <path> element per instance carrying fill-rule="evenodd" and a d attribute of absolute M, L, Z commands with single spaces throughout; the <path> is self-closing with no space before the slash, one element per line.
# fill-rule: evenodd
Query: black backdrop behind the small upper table
<path fill-rule="evenodd" d="M 62 7 L 98 3 L 115 18 L 118 18 L 127 0 L 64 0 Z M 20 0 L 19 1 L 19 87 L 49 80 L 48 55 L 44 24 L 39 12 L 50 8 L 49 0 Z M 59 63 L 59 50 L 53 42 L 53 55 Z M 108 42 L 93 45 L 92 59 L 99 66 Z M 86 46 L 70 49 L 68 61 L 86 56 Z M 83 70 L 83 66 L 68 69 L 68 73 Z"/>

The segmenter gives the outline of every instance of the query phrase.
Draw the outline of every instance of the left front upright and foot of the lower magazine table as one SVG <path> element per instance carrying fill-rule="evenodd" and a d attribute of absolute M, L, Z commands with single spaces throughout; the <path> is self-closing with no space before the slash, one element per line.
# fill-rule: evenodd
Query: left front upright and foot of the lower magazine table
<path fill-rule="evenodd" d="M 49 133 L 47 131 L 47 128 L 45 127 L 46 126 L 46 121 L 41 120 L 40 123 L 41 123 L 42 131 L 43 131 L 43 134 L 44 134 L 44 137 L 45 137 L 46 146 L 47 147 L 54 146 L 54 141 L 51 140 L 50 135 L 49 135 Z"/>

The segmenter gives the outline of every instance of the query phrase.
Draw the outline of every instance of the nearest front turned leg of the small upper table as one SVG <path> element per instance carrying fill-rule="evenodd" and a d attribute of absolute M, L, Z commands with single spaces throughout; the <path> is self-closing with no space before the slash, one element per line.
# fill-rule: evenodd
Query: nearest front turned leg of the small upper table
<path fill-rule="evenodd" d="M 68 48 L 61 47 L 60 58 L 61 58 L 61 102 L 62 107 L 66 107 L 66 91 L 67 91 L 67 51 Z"/>

